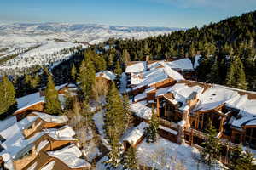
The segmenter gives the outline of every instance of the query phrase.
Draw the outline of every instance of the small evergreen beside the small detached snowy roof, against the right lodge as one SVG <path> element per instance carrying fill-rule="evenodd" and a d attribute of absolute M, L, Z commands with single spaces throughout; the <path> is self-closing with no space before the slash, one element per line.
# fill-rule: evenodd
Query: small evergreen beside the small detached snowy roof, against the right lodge
<path fill-rule="evenodd" d="M 148 143 L 155 142 L 158 127 L 159 127 L 159 120 L 156 113 L 154 113 L 154 110 L 152 109 L 152 116 L 150 119 L 149 127 L 145 129 L 146 142 Z"/>

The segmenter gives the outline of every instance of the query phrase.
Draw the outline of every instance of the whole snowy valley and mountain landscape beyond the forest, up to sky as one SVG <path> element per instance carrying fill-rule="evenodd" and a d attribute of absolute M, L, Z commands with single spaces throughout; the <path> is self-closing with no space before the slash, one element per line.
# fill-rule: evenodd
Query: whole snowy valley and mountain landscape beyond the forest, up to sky
<path fill-rule="evenodd" d="M 70 56 L 61 50 L 86 47 L 84 42 L 96 44 L 110 37 L 141 39 L 177 30 L 180 29 L 68 23 L 0 24 L 0 71 L 60 62 Z M 12 54 L 17 56 L 1 62 Z"/>

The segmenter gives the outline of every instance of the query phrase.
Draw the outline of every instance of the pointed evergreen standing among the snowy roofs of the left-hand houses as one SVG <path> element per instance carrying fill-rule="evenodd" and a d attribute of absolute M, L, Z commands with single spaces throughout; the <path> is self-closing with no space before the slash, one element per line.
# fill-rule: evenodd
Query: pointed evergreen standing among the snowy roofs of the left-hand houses
<path fill-rule="evenodd" d="M 59 94 L 55 89 L 55 82 L 53 77 L 49 75 L 47 87 L 45 89 L 45 107 L 44 111 L 52 115 L 59 115 L 61 113 L 61 102 Z"/>

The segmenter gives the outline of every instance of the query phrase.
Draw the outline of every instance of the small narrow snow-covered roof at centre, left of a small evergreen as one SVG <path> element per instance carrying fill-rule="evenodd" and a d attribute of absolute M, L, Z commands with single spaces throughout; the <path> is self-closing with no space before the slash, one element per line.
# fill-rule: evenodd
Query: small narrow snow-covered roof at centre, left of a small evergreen
<path fill-rule="evenodd" d="M 129 142 L 131 145 L 135 145 L 139 139 L 143 137 L 145 128 L 148 127 L 148 123 L 141 122 L 137 127 L 131 130 L 131 133 L 127 134 L 123 141 Z"/>

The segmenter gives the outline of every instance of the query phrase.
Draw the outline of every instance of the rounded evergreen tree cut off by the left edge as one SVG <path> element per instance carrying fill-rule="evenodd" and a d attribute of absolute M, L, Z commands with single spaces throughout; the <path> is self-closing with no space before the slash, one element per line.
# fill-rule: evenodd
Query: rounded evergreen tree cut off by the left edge
<path fill-rule="evenodd" d="M 6 76 L 0 77 L 0 118 L 16 110 L 15 88 Z"/>

